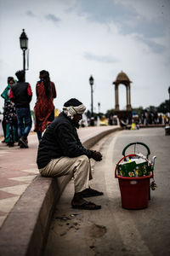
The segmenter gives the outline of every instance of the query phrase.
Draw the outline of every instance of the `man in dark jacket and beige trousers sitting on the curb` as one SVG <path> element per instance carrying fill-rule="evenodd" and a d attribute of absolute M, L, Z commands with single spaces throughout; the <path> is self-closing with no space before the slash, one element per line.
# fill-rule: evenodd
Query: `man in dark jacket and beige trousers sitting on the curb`
<path fill-rule="evenodd" d="M 60 177 L 71 174 L 74 177 L 75 195 L 71 206 L 76 209 L 97 210 L 101 206 L 84 200 L 84 197 L 103 195 L 89 187 L 92 178 L 90 158 L 102 160 L 98 151 L 82 146 L 77 135 L 78 122 L 86 108 L 77 99 L 65 102 L 63 112 L 48 125 L 37 151 L 37 166 L 45 177 Z"/>

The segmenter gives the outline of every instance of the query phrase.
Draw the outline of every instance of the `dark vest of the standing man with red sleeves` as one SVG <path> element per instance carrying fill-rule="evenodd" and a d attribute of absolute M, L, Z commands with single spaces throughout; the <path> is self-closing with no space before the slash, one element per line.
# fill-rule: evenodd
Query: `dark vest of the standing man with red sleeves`
<path fill-rule="evenodd" d="M 11 100 L 15 103 L 16 108 L 30 108 L 32 95 L 28 94 L 28 86 L 26 82 L 18 82 L 11 87 L 13 97 Z"/>

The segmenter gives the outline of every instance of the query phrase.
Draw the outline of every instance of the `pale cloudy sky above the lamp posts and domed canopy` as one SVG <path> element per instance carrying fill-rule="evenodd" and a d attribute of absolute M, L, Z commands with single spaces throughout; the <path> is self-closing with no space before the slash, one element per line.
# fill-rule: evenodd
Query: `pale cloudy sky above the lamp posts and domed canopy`
<path fill-rule="evenodd" d="M 20 34 L 29 38 L 26 81 L 36 102 L 39 71 L 48 70 L 58 93 L 55 108 L 77 97 L 90 109 L 89 77 L 94 77 L 94 111 L 115 107 L 113 81 L 123 71 L 131 103 L 144 108 L 168 99 L 170 86 L 170 0 L 0 0 L 0 92 L 23 67 Z M 119 86 L 120 107 L 126 88 Z M 3 99 L 0 99 L 3 110 Z"/>

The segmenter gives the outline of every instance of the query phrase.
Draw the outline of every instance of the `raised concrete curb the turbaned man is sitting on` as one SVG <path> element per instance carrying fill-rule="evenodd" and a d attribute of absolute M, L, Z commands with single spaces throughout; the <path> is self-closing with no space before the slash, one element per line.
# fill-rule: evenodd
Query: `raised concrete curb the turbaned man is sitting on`
<path fill-rule="evenodd" d="M 121 130 L 112 128 L 82 141 L 91 148 L 105 135 Z M 51 178 L 38 175 L 20 197 L 0 230 L 0 255 L 41 256 L 56 202 L 70 176 Z"/>

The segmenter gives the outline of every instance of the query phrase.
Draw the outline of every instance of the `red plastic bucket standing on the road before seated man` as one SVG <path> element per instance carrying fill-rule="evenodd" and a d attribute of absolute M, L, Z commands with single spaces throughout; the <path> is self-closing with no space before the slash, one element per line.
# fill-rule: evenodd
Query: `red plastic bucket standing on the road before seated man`
<path fill-rule="evenodd" d="M 136 156 L 136 154 L 129 154 L 128 156 Z M 120 160 L 117 165 L 122 161 Z M 153 172 L 150 176 L 144 177 L 121 177 L 116 174 L 115 177 L 119 180 L 119 187 L 121 190 L 122 207 L 126 209 L 143 209 L 148 207 L 150 177 L 153 177 Z"/>

